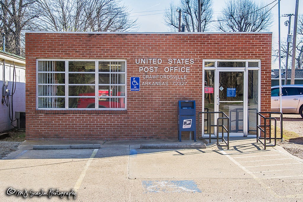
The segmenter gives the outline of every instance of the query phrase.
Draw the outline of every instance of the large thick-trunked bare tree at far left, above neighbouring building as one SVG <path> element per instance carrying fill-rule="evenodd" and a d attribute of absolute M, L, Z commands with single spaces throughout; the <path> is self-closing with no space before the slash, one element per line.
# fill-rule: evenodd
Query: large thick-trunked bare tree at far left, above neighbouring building
<path fill-rule="evenodd" d="M 1 31 L 6 35 L 7 51 L 15 55 L 24 55 L 24 31 L 31 30 L 33 19 L 38 17 L 33 12 L 34 3 L 35 0 L 0 0 Z"/>

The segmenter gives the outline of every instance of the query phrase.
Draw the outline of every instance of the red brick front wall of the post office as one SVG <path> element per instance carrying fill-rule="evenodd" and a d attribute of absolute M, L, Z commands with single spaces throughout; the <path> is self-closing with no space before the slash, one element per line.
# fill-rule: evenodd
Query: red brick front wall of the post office
<path fill-rule="evenodd" d="M 127 111 L 37 110 L 38 58 L 127 60 Z M 156 65 L 157 73 L 139 73 L 136 58 L 166 61 Z M 167 58 L 194 59 L 185 65 L 186 86 L 141 85 L 139 92 L 130 91 L 131 76 L 143 81 L 144 74 L 184 75 L 164 72 L 166 66 L 184 66 L 168 65 Z M 26 33 L 26 139 L 177 138 L 177 101 L 195 100 L 197 111 L 202 108 L 203 59 L 261 59 L 261 111 L 270 111 L 270 33 Z"/>

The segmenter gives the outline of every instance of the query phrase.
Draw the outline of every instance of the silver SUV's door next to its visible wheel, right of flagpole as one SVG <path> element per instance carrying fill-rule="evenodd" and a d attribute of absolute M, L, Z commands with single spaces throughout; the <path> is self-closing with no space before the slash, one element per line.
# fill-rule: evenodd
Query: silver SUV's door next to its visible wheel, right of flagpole
<path fill-rule="evenodd" d="M 282 112 L 295 113 L 300 101 L 300 95 L 295 87 L 282 88 Z"/>

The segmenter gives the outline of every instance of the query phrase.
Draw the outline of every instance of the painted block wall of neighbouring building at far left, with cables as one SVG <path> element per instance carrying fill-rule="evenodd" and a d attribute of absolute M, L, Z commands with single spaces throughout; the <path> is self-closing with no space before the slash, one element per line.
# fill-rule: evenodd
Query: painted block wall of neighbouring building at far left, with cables
<path fill-rule="evenodd" d="M 15 78 L 16 78 L 16 88 L 14 87 L 15 94 L 13 95 L 13 113 L 12 109 L 8 108 L 6 104 L 0 104 L 0 132 L 2 131 L 7 131 L 9 129 L 12 129 L 13 126 L 11 125 L 11 120 L 9 118 L 9 113 L 10 116 L 13 116 L 13 120 L 15 119 L 15 111 L 25 111 L 25 64 L 19 64 L 15 63 L 15 68 L 16 68 L 16 73 L 15 73 Z M 5 60 L 5 81 L 8 81 L 8 89 L 10 90 L 10 93 L 12 93 L 12 81 L 13 81 L 13 70 L 14 70 L 14 65 L 13 62 L 10 60 Z M 1 99 L 2 97 L 2 87 L 5 83 L 3 80 L 3 60 L 0 63 L 0 94 L 1 94 Z M 6 100 L 7 97 L 5 97 Z M 9 102 L 10 105 L 12 103 L 11 96 L 9 96 Z M 14 121 L 12 122 L 14 126 L 17 126 L 17 122 Z"/>

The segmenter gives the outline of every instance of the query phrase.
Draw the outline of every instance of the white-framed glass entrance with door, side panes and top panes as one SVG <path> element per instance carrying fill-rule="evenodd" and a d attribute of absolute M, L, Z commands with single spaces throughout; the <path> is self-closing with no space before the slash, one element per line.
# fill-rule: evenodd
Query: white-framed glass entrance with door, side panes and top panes
<path fill-rule="evenodd" d="M 203 107 L 205 112 L 223 111 L 230 118 L 230 134 L 256 135 L 260 111 L 260 61 L 205 60 L 203 62 Z M 211 114 L 211 113 L 210 113 Z M 204 117 L 205 136 L 215 136 L 218 114 Z M 207 121 L 209 120 L 209 121 Z M 220 133 L 219 129 L 219 133 Z"/>

